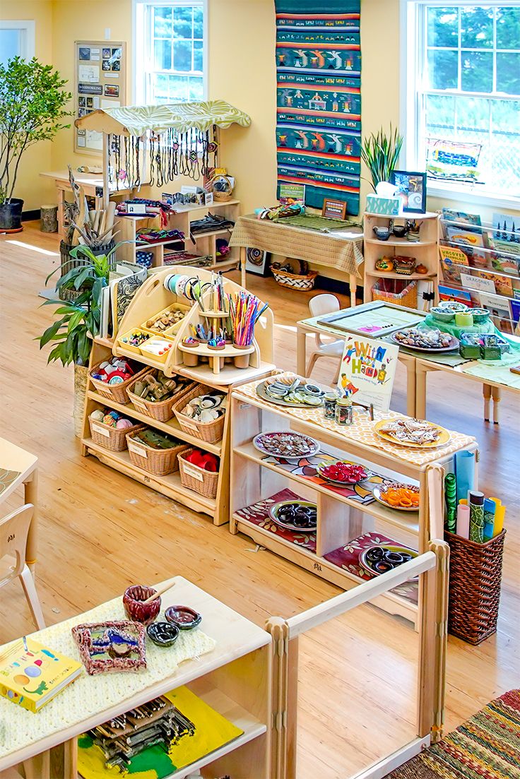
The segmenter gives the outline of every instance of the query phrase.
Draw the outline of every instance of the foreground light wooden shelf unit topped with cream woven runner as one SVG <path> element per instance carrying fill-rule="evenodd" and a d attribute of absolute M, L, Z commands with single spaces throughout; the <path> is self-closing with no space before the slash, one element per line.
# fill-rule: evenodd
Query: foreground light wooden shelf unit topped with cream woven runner
<path fill-rule="evenodd" d="M 37 714 L 25 712 L 29 725 L 32 717 L 35 721 L 49 717 L 47 729 L 50 732 L 45 738 L 34 739 L 27 728 L 26 741 L 15 751 L 9 748 L 9 711 L 14 704 L 0 698 L 5 735 L 0 743 L 1 779 L 19 777 L 9 769 L 20 763 L 26 779 L 76 779 L 76 738 L 79 735 L 183 685 L 244 732 L 196 763 L 175 771 L 171 774 L 172 779 L 182 779 L 197 769 L 202 771 L 203 777 L 211 779 L 224 774 L 241 779 L 267 777 L 271 738 L 271 636 L 182 576 L 176 576 L 173 581 L 175 587 L 162 596 L 161 609 L 177 603 L 195 608 L 203 618 L 200 629 L 216 641 L 214 650 L 183 662 L 176 671 L 153 682 L 143 677 L 141 689 L 117 705 L 100 708 L 88 717 L 80 710 L 78 716 L 69 721 L 67 701 L 77 683 L 73 682 L 55 700 L 55 704 L 59 702 L 62 707 L 67 724 L 63 726 L 60 717 L 55 717 L 55 723 L 51 719 L 48 707 L 53 706 L 52 703 Z M 161 587 L 160 584 L 155 586 Z M 84 622 L 83 616 L 78 615 L 74 624 Z M 94 621 L 95 610 L 94 614 L 90 612 L 90 619 Z M 63 630 L 69 630 L 66 622 L 62 625 Z M 32 637 L 52 648 L 51 640 L 46 636 L 55 631 L 56 626 L 34 633 Z M 3 648 L 0 647 L 0 653 Z M 168 649 L 163 651 L 168 652 Z M 87 677 L 86 681 L 98 688 L 104 679 L 110 683 L 106 675 Z"/>

